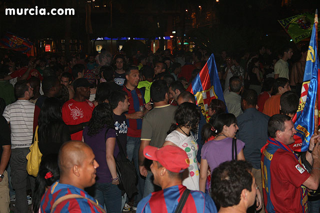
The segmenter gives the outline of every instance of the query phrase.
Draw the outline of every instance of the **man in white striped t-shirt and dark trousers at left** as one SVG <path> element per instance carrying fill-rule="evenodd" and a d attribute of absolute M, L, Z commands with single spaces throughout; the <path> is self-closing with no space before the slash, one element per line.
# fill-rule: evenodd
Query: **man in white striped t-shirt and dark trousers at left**
<path fill-rule="evenodd" d="M 11 181 L 15 190 L 14 212 L 23 213 L 28 211 L 26 200 L 26 155 L 32 144 L 33 136 L 33 113 L 34 103 L 28 100 L 33 96 L 33 88 L 26 80 L 16 82 L 14 95 L 17 98 L 12 104 L 5 107 L 3 117 L 10 124 L 11 129 Z M 30 177 L 30 176 L 29 176 Z M 30 179 L 31 189 L 34 179 Z"/>

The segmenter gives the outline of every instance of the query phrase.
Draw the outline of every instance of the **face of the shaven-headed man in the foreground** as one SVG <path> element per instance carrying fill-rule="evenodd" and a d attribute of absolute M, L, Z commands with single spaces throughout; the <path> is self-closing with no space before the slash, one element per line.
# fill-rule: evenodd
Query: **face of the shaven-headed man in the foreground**
<path fill-rule="evenodd" d="M 95 184 L 95 172 L 99 164 L 95 161 L 95 156 L 90 148 L 83 148 L 84 159 L 79 166 L 80 178 L 82 179 L 83 188 Z"/>

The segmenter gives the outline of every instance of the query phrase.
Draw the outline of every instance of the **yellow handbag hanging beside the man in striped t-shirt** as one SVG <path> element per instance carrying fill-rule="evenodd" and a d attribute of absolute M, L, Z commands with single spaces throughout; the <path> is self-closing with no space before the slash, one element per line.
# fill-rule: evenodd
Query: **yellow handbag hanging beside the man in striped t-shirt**
<path fill-rule="evenodd" d="M 38 128 L 39 126 L 36 126 L 33 144 L 29 147 L 30 152 L 25 157 L 27 160 L 26 171 L 29 175 L 32 175 L 34 177 L 38 175 L 42 157 L 38 146 Z"/>

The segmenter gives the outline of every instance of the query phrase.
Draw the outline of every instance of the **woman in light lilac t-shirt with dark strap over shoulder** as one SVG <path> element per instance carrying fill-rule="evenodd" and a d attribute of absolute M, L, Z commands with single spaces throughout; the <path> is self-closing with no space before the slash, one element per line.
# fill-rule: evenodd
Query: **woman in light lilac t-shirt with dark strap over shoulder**
<path fill-rule="evenodd" d="M 222 113 L 212 117 L 212 128 L 214 139 L 206 142 L 201 149 L 201 167 L 199 190 L 204 192 L 208 166 L 211 171 L 219 164 L 232 160 L 232 139 L 239 129 L 236 125 L 236 118 L 231 113 Z M 236 140 L 237 160 L 244 160 L 244 143 Z"/>

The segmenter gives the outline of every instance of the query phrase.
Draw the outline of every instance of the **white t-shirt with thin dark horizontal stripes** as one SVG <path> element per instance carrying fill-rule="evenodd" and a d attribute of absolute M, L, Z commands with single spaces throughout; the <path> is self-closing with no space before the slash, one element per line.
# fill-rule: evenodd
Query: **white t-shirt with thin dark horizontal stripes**
<path fill-rule="evenodd" d="M 17 100 L 5 107 L 2 115 L 10 123 L 11 149 L 31 146 L 34 106 L 28 100 Z"/>

